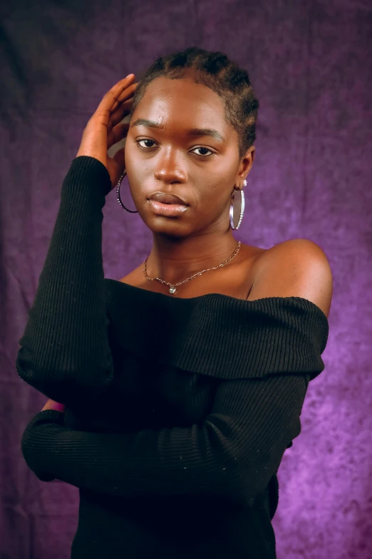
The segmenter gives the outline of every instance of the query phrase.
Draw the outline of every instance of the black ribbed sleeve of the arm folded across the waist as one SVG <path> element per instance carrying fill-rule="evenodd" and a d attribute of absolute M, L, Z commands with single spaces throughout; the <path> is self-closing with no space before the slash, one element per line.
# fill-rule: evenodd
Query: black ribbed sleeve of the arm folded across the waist
<path fill-rule="evenodd" d="M 41 480 L 110 495 L 224 495 L 253 499 L 301 431 L 309 376 L 222 381 L 211 413 L 190 428 L 86 433 L 38 413 L 21 448 Z"/>

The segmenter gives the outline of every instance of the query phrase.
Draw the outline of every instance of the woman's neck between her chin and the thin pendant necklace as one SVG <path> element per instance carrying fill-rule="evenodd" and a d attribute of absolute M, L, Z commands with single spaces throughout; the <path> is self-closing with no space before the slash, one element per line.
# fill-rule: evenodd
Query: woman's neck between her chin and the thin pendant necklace
<path fill-rule="evenodd" d="M 206 268 L 218 266 L 232 256 L 236 247 L 231 229 L 226 233 L 187 238 L 154 234 L 146 263 L 147 273 L 150 278 L 158 277 L 174 284 Z"/>

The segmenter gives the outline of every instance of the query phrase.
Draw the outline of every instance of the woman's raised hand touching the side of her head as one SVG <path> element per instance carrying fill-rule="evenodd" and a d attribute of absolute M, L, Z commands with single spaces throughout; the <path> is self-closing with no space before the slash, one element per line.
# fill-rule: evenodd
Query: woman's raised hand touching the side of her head
<path fill-rule="evenodd" d="M 138 84 L 133 84 L 135 74 L 118 81 L 104 96 L 98 109 L 83 131 L 83 137 L 78 149 L 78 156 L 95 157 L 107 168 L 113 188 L 125 168 L 124 150 L 118 149 L 113 158 L 108 156 L 108 149 L 125 138 L 128 134 L 129 123 L 120 123 L 130 114 L 133 95 Z"/>

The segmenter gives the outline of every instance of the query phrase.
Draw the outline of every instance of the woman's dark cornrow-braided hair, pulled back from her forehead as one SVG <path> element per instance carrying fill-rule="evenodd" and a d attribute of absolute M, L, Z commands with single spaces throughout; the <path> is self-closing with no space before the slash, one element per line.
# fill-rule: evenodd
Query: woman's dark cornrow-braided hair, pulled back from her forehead
<path fill-rule="evenodd" d="M 259 101 L 246 70 L 229 60 L 223 52 L 211 52 L 190 46 L 167 56 L 157 58 L 138 81 L 133 96 L 130 119 L 146 87 L 159 76 L 168 79 L 191 77 L 221 97 L 227 122 L 237 131 L 239 158 L 242 158 L 256 139 L 256 121 Z"/>

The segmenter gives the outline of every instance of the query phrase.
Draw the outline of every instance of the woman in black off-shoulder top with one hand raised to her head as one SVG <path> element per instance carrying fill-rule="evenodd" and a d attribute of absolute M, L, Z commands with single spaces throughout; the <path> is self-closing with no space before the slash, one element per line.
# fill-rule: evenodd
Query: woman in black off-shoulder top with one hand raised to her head
<path fill-rule="evenodd" d="M 50 398 L 24 458 L 79 488 L 74 559 L 272 559 L 277 470 L 324 370 L 329 263 L 306 239 L 234 240 L 258 108 L 246 71 L 191 47 L 133 79 L 105 94 L 63 181 L 17 358 Z M 115 281 L 102 208 L 124 169 L 153 246 Z"/>

